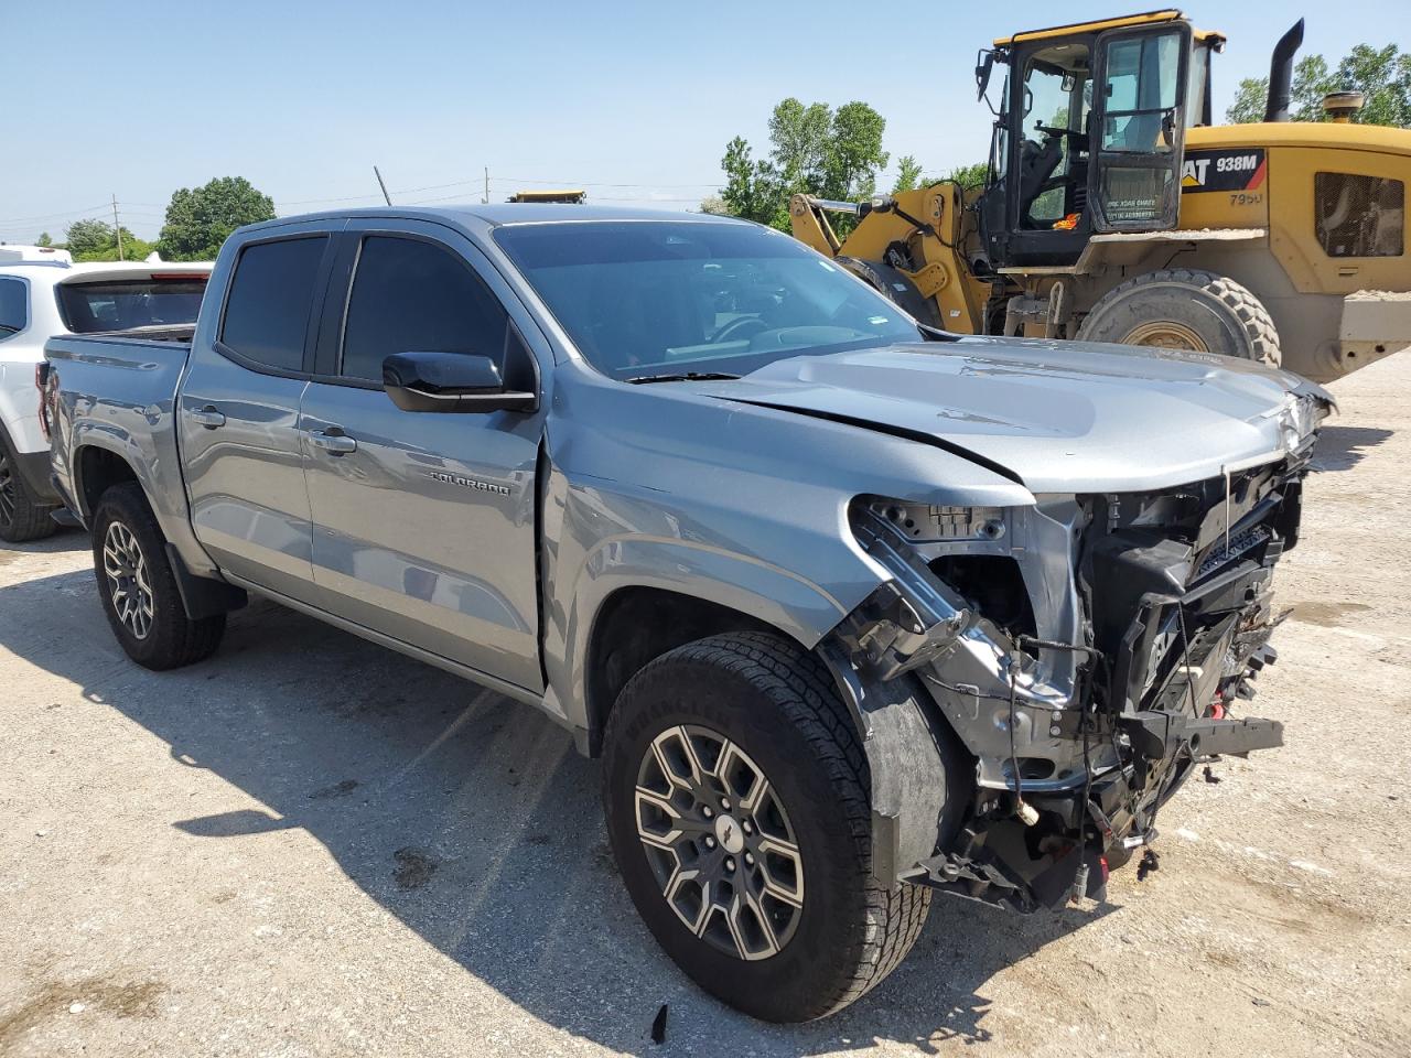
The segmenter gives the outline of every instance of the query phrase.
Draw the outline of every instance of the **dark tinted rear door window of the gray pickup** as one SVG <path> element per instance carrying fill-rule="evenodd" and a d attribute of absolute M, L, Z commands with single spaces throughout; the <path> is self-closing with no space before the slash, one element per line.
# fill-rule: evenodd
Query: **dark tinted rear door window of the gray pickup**
<path fill-rule="evenodd" d="M 220 341 L 255 365 L 303 370 L 315 281 L 326 236 L 255 243 L 240 251 Z"/>

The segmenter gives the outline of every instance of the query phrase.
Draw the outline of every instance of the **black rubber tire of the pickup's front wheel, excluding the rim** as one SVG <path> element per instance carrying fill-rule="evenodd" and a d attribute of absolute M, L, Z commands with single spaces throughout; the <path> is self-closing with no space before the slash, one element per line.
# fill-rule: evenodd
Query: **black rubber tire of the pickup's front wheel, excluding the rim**
<path fill-rule="evenodd" d="M 792 822 L 801 908 L 789 938 L 765 958 L 727 954 L 689 928 L 638 835 L 643 760 L 677 725 L 720 732 L 749 755 Z M 931 890 L 885 887 L 872 876 L 868 759 L 813 655 L 766 633 L 680 646 L 632 677 L 604 748 L 607 825 L 628 893 L 667 955 L 711 995 L 766 1021 L 807 1021 L 861 997 L 916 942 Z M 761 829 L 745 825 L 745 834 Z"/>

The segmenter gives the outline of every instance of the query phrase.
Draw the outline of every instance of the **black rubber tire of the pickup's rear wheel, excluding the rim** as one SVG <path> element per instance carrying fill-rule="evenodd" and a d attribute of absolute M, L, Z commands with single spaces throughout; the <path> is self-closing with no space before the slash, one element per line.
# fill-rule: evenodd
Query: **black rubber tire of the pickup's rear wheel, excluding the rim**
<path fill-rule="evenodd" d="M 135 542 L 145 576 L 141 577 L 148 591 L 150 611 L 143 622 L 145 631 L 131 626 L 131 621 L 124 622 L 119 614 L 119 604 L 114 602 L 114 592 L 119 585 L 104 570 L 107 556 L 106 546 L 116 539 L 110 536 L 113 526 L 119 526 L 114 533 L 130 535 Z M 220 646 L 220 638 L 226 632 L 226 615 L 192 621 L 186 616 L 181 592 L 176 588 L 176 574 L 172 571 L 166 557 L 166 539 L 157 525 L 147 497 L 135 481 L 127 481 L 109 488 L 97 509 L 93 512 L 93 573 L 97 577 L 97 594 L 103 600 L 103 612 L 107 624 L 121 643 L 123 650 L 138 664 L 158 671 L 179 669 L 192 664 L 214 653 Z M 134 591 L 133 584 L 128 591 Z"/>

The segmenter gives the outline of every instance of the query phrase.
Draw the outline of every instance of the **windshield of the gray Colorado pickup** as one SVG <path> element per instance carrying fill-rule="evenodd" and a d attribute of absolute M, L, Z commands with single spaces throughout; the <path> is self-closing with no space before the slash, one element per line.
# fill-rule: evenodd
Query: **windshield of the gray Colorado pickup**
<path fill-rule="evenodd" d="M 611 378 L 742 375 L 785 357 L 921 337 L 841 267 L 752 224 L 511 224 L 495 241 Z"/>

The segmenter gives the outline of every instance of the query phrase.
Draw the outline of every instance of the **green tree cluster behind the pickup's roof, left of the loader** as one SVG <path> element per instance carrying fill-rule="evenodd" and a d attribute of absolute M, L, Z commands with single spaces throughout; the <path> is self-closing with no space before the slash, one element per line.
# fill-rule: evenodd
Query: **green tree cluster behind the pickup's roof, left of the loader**
<path fill-rule="evenodd" d="M 742 137 L 725 145 L 720 197 L 737 217 L 789 230 L 789 199 L 817 195 L 856 202 L 876 190 L 876 175 L 888 162 L 882 150 L 886 120 L 866 103 L 804 106 L 786 99 L 769 117 L 769 158 L 753 158 Z M 703 203 L 704 209 L 704 203 Z"/>

